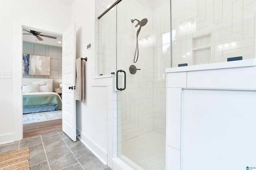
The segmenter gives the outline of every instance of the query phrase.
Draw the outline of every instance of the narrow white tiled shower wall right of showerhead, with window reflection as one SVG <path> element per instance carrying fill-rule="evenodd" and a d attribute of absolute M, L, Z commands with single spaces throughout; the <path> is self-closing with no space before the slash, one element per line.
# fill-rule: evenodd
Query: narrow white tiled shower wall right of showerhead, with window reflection
<path fill-rule="evenodd" d="M 154 20 L 154 131 L 166 133 L 166 74 L 171 66 L 170 1 L 153 10 Z"/>

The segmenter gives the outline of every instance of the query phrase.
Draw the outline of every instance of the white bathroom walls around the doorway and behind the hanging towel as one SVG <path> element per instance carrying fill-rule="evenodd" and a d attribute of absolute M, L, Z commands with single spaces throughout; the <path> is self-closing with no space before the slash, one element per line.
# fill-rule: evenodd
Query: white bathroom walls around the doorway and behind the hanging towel
<path fill-rule="evenodd" d="M 35 3 L 42 10 L 35 8 Z M 107 107 L 112 93 L 108 95 L 107 92 L 112 91 L 109 90 L 112 78 L 108 78 L 111 82 L 108 90 L 105 80 L 96 81 L 94 84 L 100 85 L 93 87 L 95 1 L 75 0 L 72 6 L 63 3 L 61 0 L 26 0 L 26 3 L 0 0 L 0 70 L 12 72 L 11 79 L 0 79 L 0 143 L 22 139 L 22 25 L 62 34 L 76 22 L 77 58 L 88 57 L 86 97 L 85 101 L 77 102 L 77 129 L 86 146 L 106 162 L 107 110 L 112 109 Z M 89 43 L 92 47 L 87 50 Z"/>

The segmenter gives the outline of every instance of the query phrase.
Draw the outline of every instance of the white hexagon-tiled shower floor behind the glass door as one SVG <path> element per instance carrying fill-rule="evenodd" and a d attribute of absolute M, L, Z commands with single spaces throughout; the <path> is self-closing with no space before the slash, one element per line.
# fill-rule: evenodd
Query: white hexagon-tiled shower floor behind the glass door
<path fill-rule="evenodd" d="M 152 131 L 123 142 L 122 153 L 145 170 L 165 170 L 165 135 Z"/>

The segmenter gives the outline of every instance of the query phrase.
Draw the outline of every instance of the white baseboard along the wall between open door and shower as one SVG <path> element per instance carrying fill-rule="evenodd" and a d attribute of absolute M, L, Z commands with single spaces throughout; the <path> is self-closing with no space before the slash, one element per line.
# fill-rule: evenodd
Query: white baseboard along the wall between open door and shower
<path fill-rule="evenodd" d="M 81 133 L 78 129 L 76 129 L 76 133 L 80 135 L 78 139 L 88 148 L 103 164 L 107 165 L 108 162 L 108 154 L 106 150 L 103 150 L 98 145 L 96 145 L 92 140 L 90 140 L 86 135 Z"/>

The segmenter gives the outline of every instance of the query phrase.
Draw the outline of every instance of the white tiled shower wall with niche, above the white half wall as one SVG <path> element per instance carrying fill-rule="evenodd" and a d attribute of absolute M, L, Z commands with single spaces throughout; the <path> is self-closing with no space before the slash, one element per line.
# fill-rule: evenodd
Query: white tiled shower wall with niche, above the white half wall
<path fill-rule="evenodd" d="M 225 62 L 238 56 L 253 59 L 255 0 L 172 0 L 172 35 L 174 67 Z M 201 57 L 195 55 L 193 39 L 205 35 L 211 37 L 211 53 L 206 55 L 204 49 Z"/>

